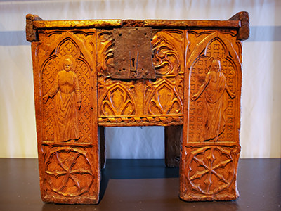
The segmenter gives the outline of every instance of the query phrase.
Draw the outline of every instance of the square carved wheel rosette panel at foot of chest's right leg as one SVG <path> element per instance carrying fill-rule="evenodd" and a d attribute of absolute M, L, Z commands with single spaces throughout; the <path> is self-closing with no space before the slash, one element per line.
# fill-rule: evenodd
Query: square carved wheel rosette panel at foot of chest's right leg
<path fill-rule="evenodd" d="M 185 146 L 184 200 L 234 200 L 240 146 L 235 143 Z"/>

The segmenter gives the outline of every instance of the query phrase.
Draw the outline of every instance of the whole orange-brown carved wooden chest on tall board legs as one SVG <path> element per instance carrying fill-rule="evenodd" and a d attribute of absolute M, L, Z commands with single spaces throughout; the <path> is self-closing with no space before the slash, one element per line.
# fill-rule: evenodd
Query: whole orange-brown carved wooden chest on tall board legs
<path fill-rule="evenodd" d="M 247 12 L 230 20 L 27 15 L 26 32 L 42 200 L 98 203 L 103 127 L 148 125 L 165 127 L 166 165 L 181 160 L 181 199 L 237 198 Z"/>

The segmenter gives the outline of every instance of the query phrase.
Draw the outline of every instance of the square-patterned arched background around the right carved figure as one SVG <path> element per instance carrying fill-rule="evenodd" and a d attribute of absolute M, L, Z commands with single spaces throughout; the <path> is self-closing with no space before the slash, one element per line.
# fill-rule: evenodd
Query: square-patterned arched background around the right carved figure
<path fill-rule="evenodd" d="M 233 141 L 235 140 L 236 134 L 233 134 L 233 128 L 236 123 L 237 111 L 235 105 L 240 101 L 239 93 L 236 90 L 237 79 L 239 78 L 240 71 L 237 69 L 237 65 L 240 65 L 240 61 L 237 58 L 237 53 L 233 47 L 229 44 L 230 41 L 223 37 L 218 32 L 214 32 L 205 37 L 200 44 L 197 45 L 195 51 L 191 54 L 190 63 L 192 58 L 195 58 L 194 62 L 190 66 L 190 90 L 189 96 L 192 98 L 198 93 L 200 85 L 204 84 L 204 81 L 210 75 L 211 63 L 213 60 L 218 60 L 221 63 L 221 75 L 226 78 L 226 86 L 229 91 L 238 97 L 231 98 L 227 91 L 221 93 L 221 107 L 220 113 L 218 111 L 211 111 L 211 108 L 207 108 L 207 100 L 204 97 L 206 93 L 200 95 L 196 101 L 190 100 L 189 109 L 189 140 L 190 141 Z M 197 54 L 198 53 L 198 54 Z M 197 56 L 196 56 L 197 55 Z M 196 57 L 195 57 L 196 56 Z M 207 86 L 206 86 L 207 87 Z M 225 89 L 225 88 L 223 88 Z M 239 89 L 238 89 L 239 90 Z M 207 113 L 213 113 L 214 116 L 221 115 L 221 123 L 207 120 Z M 209 115 L 210 116 L 210 115 Z M 208 129 L 204 129 L 205 125 L 209 124 L 220 124 L 220 128 L 217 129 L 216 136 L 210 136 L 210 138 L 204 137 L 204 132 Z M 206 126 L 207 127 L 207 126 Z"/>

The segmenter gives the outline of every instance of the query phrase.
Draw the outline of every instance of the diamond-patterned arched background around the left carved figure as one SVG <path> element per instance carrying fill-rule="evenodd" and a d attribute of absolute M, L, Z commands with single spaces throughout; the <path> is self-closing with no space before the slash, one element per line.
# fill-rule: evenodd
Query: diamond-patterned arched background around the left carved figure
<path fill-rule="evenodd" d="M 61 33 L 60 33 L 61 34 Z M 93 33 L 91 33 L 93 36 Z M 61 39 L 57 40 L 57 43 L 53 45 L 53 49 L 49 47 L 50 54 L 47 55 L 46 61 L 42 65 L 41 75 L 43 82 L 42 93 L 47 94 L 55 82 L 55 77 L 57 77 L 58 72 L 63 70 L 62 63 L 60 62 L 65 57 L 69 57 L 72 60 L 72 72 L 76 75 L 79 81 L 79 92 L 82 101 L 81 108 L 75 110 L 74 112 L 79 114 L 79 133 L 81 133 L 81 138 L 75 140 L 80 143 L 89 143 L 91 140 L 90 136 L 84 136 L 90 131 L 91 125 L 91 67 L 89 65 L 89 52 L 84 49 L 83 41 L 75 34 L 69 32 L 62 33 L 60 35 Z M 84 52 L 83 52 L 84 51 Z M 47 51 L 48 52 L 48 51 Z M 86 55 L 88 58 L 86 58 Z M 60 79 L 61 81 L 62 79 Z M 69 83 L 69 82 L 68 82 Z M 70 85 L 70 84 L 69 84 Z M 72 86 L 72 85 L 70 85 Z M 60 91 L 62 87 L 58 87 Z M 68 91 L 67 91 L 68 92 Z M 77 99 L 77 97 L 76 97 Z M 77 99 L 78 100 L 78 99 Z M 67 102 L 66 102 L 67 103 Z M 70 103 L 70 102 L 69 102 Z M 73 102 L 77 103 L 77 102 Z M 77 106 L 77 105 L 74 105 Z M 55 103 L 55 98 L 49 98 L 46 103 L 43 104 L 43 115 L 44 115 L 44 141 L 53 141 L 55 136 L 55 124 L 59 124 L 58 120 L 55 120 L 56 114 L 58 113 L 58 108 Z M 65 122 L 64 122 L 65 123 Z"/>

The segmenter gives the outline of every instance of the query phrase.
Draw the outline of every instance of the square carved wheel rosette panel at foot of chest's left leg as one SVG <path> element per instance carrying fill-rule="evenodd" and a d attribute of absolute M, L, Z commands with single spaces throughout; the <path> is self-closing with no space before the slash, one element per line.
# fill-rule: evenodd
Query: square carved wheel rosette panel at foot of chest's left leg
<path fill-rule="evenodd" d="M 89 203 L 97 200 L 96 162 L 92 146 L 42 146 L 44 156 L 44 200 L 56 203 Z"/>

